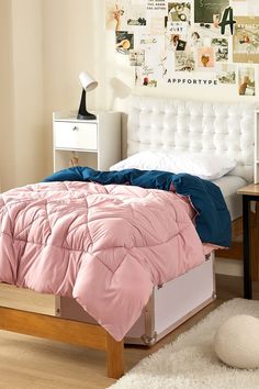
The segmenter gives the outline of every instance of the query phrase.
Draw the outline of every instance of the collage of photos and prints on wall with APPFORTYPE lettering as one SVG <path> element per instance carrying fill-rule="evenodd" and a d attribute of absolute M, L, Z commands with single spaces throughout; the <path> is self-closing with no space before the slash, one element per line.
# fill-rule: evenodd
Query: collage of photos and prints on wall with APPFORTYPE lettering
<path fill-rule="evenodd" d="M 235 85 L 240 96 L 256 93 L 257 0 L 106 0 L 106 29 L 135 86 Z"/>

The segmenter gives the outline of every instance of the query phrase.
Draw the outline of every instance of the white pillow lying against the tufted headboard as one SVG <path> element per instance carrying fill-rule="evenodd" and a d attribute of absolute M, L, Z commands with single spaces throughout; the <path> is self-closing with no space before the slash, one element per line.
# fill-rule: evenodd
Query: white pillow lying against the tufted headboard
<path fill-rule="evenodd" d="M 206 152 L 147 151 L 132 155 L 110 167 L 110 170 L 140 169 L 188 173 L 203 179 L 214 180 L 234 169 L 236 162 Z"/>

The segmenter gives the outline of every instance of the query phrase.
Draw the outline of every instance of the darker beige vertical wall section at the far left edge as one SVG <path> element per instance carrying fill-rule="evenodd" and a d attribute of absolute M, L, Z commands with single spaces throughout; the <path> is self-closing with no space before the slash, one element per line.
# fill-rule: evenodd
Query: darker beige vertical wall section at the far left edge
<path fill-rule="evenodd" d="M 41 179 L 43 155 L 42 0 L 1 0 L 1 188 Z"/>

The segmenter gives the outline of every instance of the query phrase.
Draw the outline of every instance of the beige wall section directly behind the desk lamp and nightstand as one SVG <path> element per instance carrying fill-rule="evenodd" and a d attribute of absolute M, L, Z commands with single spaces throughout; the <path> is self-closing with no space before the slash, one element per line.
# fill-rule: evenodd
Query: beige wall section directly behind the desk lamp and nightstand
<path fill-rule="evenodd" d="M 43 0 L 44 124 L 46 173 L 53 170 L 53 111 L 77 109 L 81 95 L 79 74 L 97 77 L 94 3 L 89 0 Z M 88 97 L 89 108 L 95 92 Z"/>

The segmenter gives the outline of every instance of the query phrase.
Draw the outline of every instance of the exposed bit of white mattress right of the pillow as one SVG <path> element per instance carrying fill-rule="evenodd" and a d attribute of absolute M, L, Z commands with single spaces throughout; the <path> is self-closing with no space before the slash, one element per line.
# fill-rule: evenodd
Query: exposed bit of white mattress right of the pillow
<path fill-rule="evenodd" d="M 225 198 L 232 220 L 236 220 L 243 215 L 241 196 L 237 194 L 237 189 L 245 187 L 247 181 L 238 176 L 224 176 L 215 181 Z"/>

